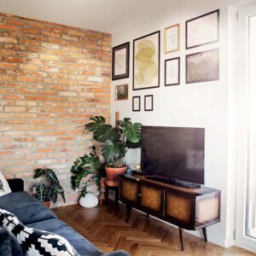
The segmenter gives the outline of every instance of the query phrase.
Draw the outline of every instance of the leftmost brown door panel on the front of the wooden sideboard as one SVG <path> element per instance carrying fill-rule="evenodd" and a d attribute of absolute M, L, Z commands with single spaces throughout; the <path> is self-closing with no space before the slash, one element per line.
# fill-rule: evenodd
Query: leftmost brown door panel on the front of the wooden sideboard
<path fill-rule="evenodd" d="M 136 181 L 121 179 L 121 199 L 137 203 L 139 185 Z"/>

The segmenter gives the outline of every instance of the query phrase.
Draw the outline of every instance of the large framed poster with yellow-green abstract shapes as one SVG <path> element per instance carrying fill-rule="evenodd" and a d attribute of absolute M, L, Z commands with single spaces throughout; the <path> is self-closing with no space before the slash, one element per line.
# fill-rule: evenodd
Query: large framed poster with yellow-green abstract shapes
<path fill-rule="evenodd" d="M 133 40 L 133 90 L 160 86 L 160 31 Z"/>

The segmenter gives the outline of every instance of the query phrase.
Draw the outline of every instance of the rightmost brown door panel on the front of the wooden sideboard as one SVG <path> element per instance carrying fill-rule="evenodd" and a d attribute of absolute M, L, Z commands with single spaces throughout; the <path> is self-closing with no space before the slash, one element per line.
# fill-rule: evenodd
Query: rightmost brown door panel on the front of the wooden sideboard
<path fill-rule="evenodd" d="M 166 217 L 191 226 L 193 224 L 193 198 L 166 191 Z"/>

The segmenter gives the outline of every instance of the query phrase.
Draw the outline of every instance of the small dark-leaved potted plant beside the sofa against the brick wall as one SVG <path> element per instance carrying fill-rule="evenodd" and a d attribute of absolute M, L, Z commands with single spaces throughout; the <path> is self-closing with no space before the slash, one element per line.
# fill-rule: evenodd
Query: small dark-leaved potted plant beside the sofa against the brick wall
<path fill-rule="evenodd" d="M 44 181 L 38 183 L 35 187 L 35 197 L 44 206 L 49 207 L 50 201 L 55 203 L 58 195 L 61 195 L 62 200 L 66 202 L 64 189 L 53 170 L 38 168 L 35 170 L 33 177 L 44 177 Z"/>

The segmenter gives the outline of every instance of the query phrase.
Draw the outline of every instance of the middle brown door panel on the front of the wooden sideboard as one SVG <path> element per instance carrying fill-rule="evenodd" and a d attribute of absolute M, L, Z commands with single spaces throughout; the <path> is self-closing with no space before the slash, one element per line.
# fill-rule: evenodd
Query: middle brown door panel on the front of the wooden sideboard
<path fill-rule="evenodd" d="M 142 207 L 147 207 L 151 211 L 161 213 L 163 189 L 154 188 L 153 186 L 141 185 L 140 203 Z"/>

